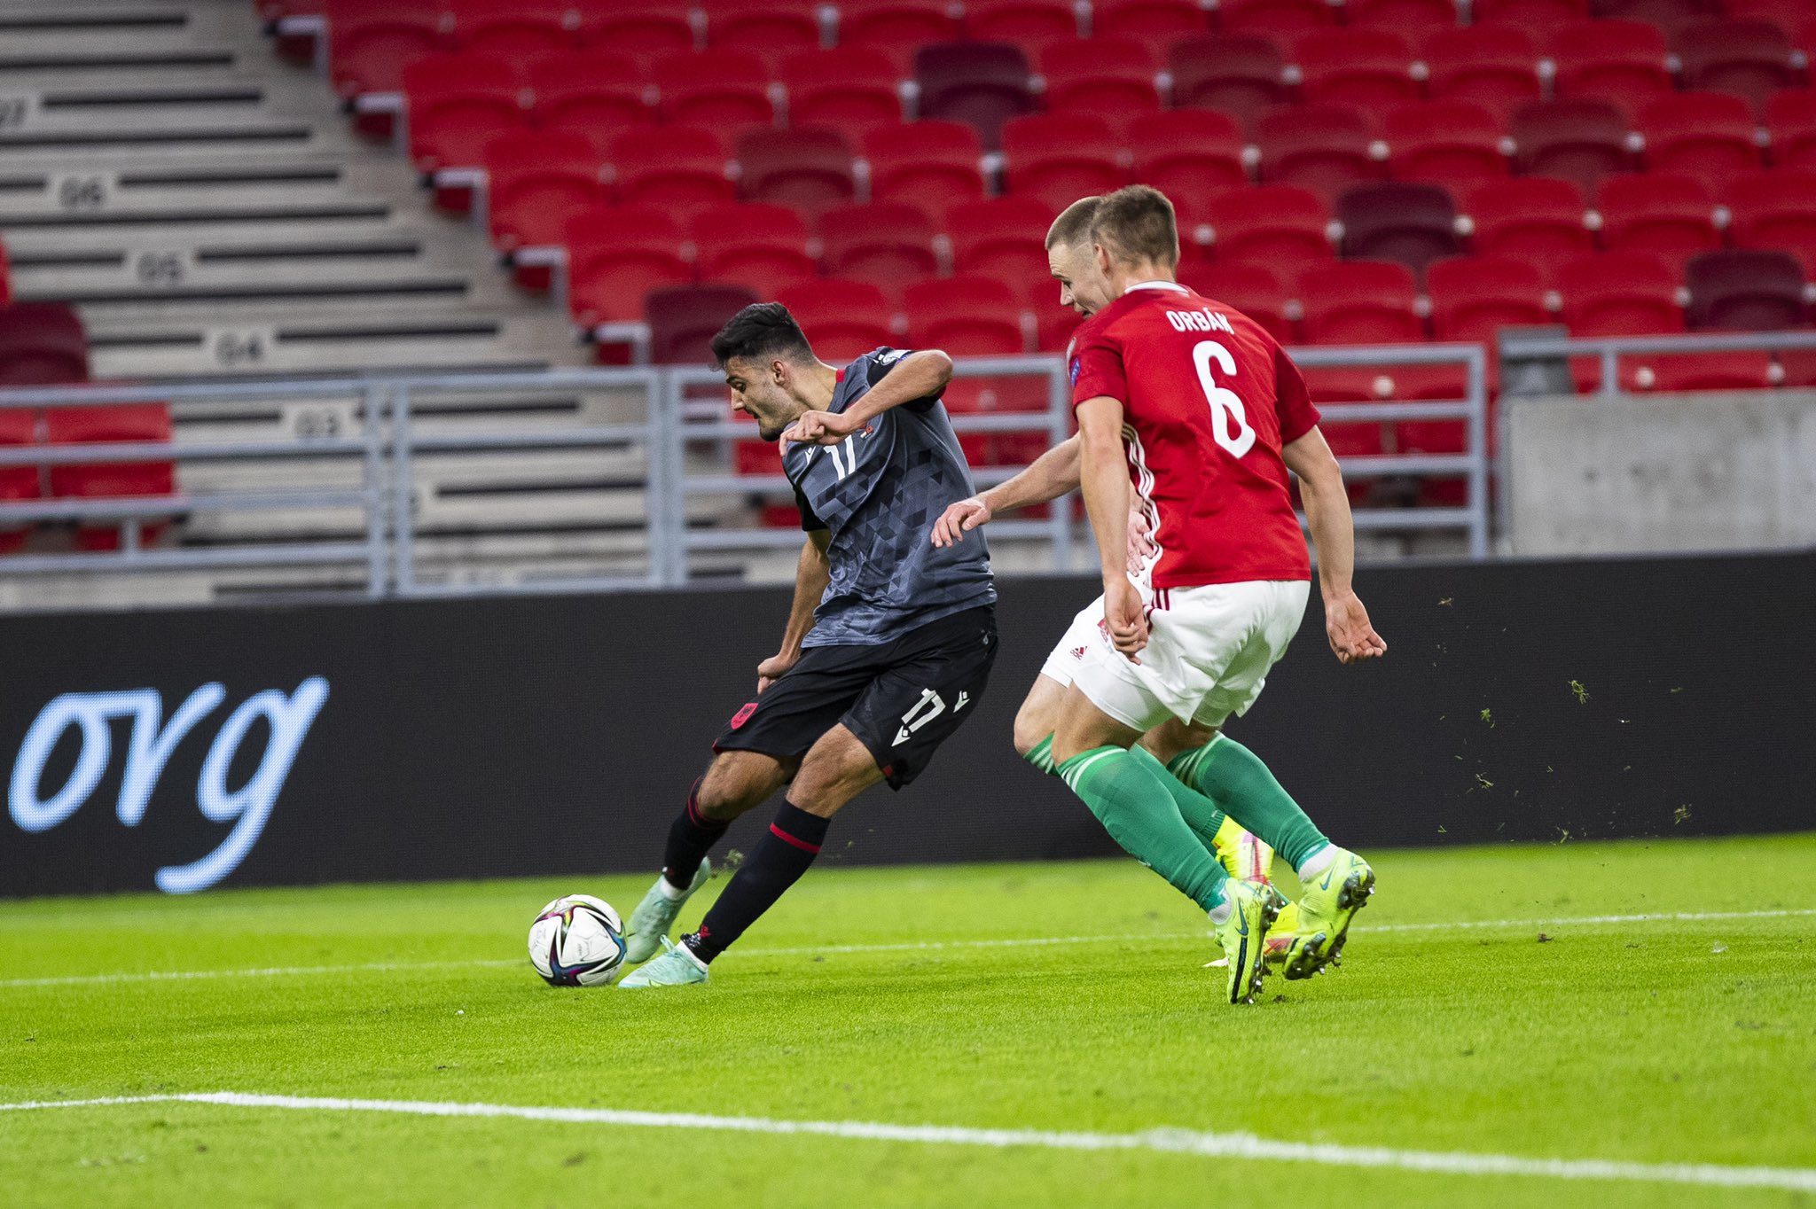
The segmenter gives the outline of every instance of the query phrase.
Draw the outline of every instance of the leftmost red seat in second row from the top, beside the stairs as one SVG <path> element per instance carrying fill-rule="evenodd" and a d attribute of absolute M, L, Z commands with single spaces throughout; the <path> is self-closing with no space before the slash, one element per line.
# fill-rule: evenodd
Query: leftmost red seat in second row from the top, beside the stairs
<path fill-rule="evenodd" d="M 430 54 L 403 69 L 403 93 L 419 172 L 478 167 L 487 143 L 530 122 L 523 76 L 496 58 Z"/>

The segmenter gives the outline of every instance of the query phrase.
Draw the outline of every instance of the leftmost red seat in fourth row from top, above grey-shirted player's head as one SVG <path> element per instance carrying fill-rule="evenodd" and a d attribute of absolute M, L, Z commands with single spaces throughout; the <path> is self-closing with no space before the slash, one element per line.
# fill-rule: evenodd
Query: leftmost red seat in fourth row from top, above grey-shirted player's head
<path fill-rule="evenodd" d="M 688 285 L 681 223 L 654 205 L 587 207 L 563 227 L 568 252 L 568 310 L 585 329 L 643 318 L 643 296 Z"/>

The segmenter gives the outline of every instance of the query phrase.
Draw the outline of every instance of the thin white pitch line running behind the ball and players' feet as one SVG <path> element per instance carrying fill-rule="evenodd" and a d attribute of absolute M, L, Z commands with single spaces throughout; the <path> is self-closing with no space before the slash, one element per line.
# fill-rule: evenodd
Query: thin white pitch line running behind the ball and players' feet
<path fill-rule="evenodd" d="M 1816 915 L 1816 908 L 1778 911 L 1660 911 L 1653 915 L 1560 915 L 1554 919 L 1478 919 L 1438 924 L 1357 924 L 1351 931 L 1458 931 L 1464 928 L 1567 928 L 1571 924 L 1665 924 L 1740 919 L 1789 919 Z M 941 949 L 1013 949 L 1057 944 L 1122 944 L 1128 940 L 1202 940 L 1208 931 L 1124 931 L 1108 937 L 1010 937 L 992 940 L 904 940 L 899 944 L 810 944 L 783 949 L 737 949 L 741 957 L 810 957 L 819 953 L 921 953 Z M 412 969 L 472 969 L 481 966 L 518 966 L 512 958 L 463 958 L 445 962 L 363 962 L 352 966 L 267 966 L 262 969 L 147 969 L 127 973 L 58 975 L 47 978 L 0 978 L 0 991 L 33 986 L 93 986 L 109 982 L 185 982 L 191 978 L 278 978 L 321 973 L 394 973 Z"/>

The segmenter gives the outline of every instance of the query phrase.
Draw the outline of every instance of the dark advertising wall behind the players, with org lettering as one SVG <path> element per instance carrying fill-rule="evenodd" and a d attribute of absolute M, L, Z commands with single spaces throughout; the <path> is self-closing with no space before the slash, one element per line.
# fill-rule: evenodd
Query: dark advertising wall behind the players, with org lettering
<path fill-rule="evenodd" d="M 1231 726 L 1342 842 L 1816 826 L 1816 555 L 1377 568 L 1358 590 L 1387 659 L 1338 666 L 1313 601 L 1268 693 Z M 1002 657 L 977 717 L 917 784 L 850 806 L 830 859 L 1113 851 L 1008 744 L 1041 659 L 1093 592 L 1088 579 L 1002 585 Z M 220 884 L 652 870 L 785 612 L 783 590 L 697 590 L 0 619 L 13 808 L 0 817 L 0 893 L 149 890 L 156 870 L 207 857 L 243 808 L 223 793 L 254 777 L 271 735 L 252 721 L 236 752 L 223 724 L 254 693 L 294 693 L 311 677 L 327 699 L 269 822 Z M 171 750 L 136 826 L 118 802 L 131 712 L 147 693 L 113 699 L 118 715 L 93 722 L 87 759 L 107 748 L 105 772 L 45 826 L 31 802 L 71 773 L 82 788 L 82 726 L 62 730 L 25 784 L 42 795 L 25 811 L 42 830 L 18 826 L 16 755 L 54 697 L 156 690 L 143 784 L 156 724 L 216 681 L 225 692 Z M 198 790 L 203 773 L 212 795 Z"/>

